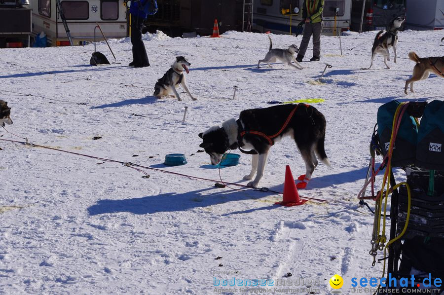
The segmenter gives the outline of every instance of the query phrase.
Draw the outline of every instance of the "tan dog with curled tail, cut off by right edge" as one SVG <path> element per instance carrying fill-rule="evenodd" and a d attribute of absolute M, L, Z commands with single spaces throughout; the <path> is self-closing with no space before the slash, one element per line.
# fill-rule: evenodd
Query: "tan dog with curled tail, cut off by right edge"
<path fill-rule="evenodd" d="M 404 93 L 407 94 L 408 84 L 410 84 L 410 91 L 413 91 L 413 82 L 427 79 L 430 73 L 435 73 L 439 77 L 444 78 L 444 56 L 441 57 L 419 57 L 415 52 L 409 52 L 408 57 L 416 62 L 413 68 L 411 78 L 406 81 Z"/>

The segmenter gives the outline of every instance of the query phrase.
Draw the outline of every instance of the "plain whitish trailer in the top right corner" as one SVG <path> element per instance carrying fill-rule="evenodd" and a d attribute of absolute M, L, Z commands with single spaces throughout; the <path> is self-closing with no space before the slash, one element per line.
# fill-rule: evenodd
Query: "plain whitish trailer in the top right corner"
<path fill-rule="evenodd" d="M 444 0 L 407 0 L 407 8 L 407 29 L 444 29 Z"/>

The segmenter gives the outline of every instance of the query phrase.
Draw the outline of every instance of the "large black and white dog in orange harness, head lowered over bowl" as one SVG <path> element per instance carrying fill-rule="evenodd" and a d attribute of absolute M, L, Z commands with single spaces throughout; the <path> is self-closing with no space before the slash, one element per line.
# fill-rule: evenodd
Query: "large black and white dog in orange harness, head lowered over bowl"
<path fill-rule="evenodd" d="M 222 127 L 213 126 L 200 133 L 203 139 L 200 147 L 210 155 L 211 164 L 218 164 L 228 149 L 239 148 L 242 152 L 253 154 L 250 174 L 245 180 L 256 178 L 248 183 L 257 186 L 263 176 L 268 151 L 282 137 L 290 136 L 305 162 L 306 172 L 298 178 L 304 188 L 318 165 L 316 155 L 330 166 L 324 149 L 326 120 L 324 115 L 312 106 L 288 104 L 242 111 L 239 119 L 229 119 Z M 245 149 L 251 149 L 245 151 Z M 316 155 L 315 155 L 316 154 Z"/>

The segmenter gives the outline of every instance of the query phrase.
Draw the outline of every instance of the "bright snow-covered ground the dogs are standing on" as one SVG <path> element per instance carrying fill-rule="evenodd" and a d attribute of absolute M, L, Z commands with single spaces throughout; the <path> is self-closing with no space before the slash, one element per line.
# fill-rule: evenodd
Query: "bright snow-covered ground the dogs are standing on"
<path fill-rule="evenodd" d="M 332 163 L 320 163 L 299 192 L 328 202 L 286 208 L 273 205 L 282 199 L 273 192 L 216 188 L 215 182 L 153 170 L 145 170 L 147 179 L 118 163 L 0 141 L 0 294 L 259 292 L 214 286 L 215 278 L 222 285 L 233 277 L 295 285 L 303 279 L 298 288 L 310 290 L 299 294 L 331 294 L 334 274 L 343 277 L 342 293 L 349 294 L 352 277 L 381 276 L 382 264 L 371 267 L 369 255 L 373 216 L 356 200 L 376 111 L 393 99 L 443 99 L 444 80 L 436 75 L 415 83 L 414 94 L 403 91 L 414 66 L 407 53 L 442 56 L 444 47 L 443 32 L 401 32 L 391 70 L 381 56 L 374 69 L 361 70 L 370 65 L 374 36 L 342 37 L 342 55 L 339 39 L 323 36 L 321 62 L 303 62 L 302 71 L 282 63 L 258 69 L 269 43 L 253 33 L 189 39 L 148 34 L 151 66 L 142 69 L 127 67 L 129 38 L 111 40 L 118 64 L 100 67 L 89 66 L 92 44 L 0 49 L 0 99 L 14 121 L 6 129 L 30 143 L 219 180 L 209 156 L 197 152 L 199 132 L 244 109 L 269 107 L 269 101 L 322 98 L 314 106 L 327 119 Z M 300 38 L 272 36 L 274 48 L 299 45 Z M 105 43 L 98 50 L 113 61 Z M 198 100 L 182 88 L 181 102 L 154 99 L 154 83 L 179 55 L 191 63 L 186 79 Z M 309 47 L 305 60 L 311 56 Z M 316 81 L 325 63 L 333 68 Z M 239 90 L 231 100 L 234 85 Z M 0 136 L 23 141 L 4 129 Z M 184 153 L 188 163 L 164 166 L 168 153 Z M 239 165 L 221 169 L 222 179 L 239 182 L 250 161 L 241 154 Z M 272 147 L 259 185 L 282 191 L 287 164 L 295 178 L 305 173 L 290 139 Z M 287 273 L 292 276 L 285 278 Z"/>

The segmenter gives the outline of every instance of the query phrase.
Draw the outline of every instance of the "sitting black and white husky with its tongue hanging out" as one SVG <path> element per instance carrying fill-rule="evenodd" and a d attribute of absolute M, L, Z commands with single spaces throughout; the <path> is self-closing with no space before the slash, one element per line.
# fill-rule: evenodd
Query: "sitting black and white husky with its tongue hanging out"
<path fill-rule="evenodd" d="M 157 80 L 156 85 L 154 86 L 153 95 L 156 97 L 166 96 L 172 91 L 175 94 L 173 97 L 177 97 L 177 100 L 182 100 L 176 90 L 177 85 L 182 84 L 182 87 L 184 87 L 191 99 L 196 100 L 196 98 L 194 98 L 189 92 L 185 82 L 184 70 L 186 74 L 188 74 L 189 66 L 191 66 L 191 64 L 185 59 L 185 57 L 176 56 L 176 61 L 171 68 L 163 75 L 163 77 Z"/>

